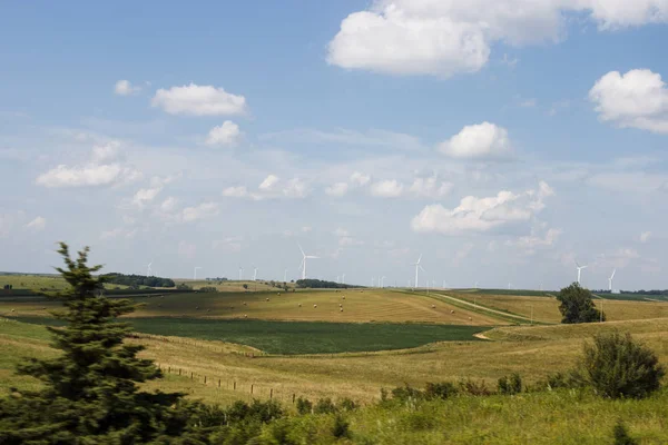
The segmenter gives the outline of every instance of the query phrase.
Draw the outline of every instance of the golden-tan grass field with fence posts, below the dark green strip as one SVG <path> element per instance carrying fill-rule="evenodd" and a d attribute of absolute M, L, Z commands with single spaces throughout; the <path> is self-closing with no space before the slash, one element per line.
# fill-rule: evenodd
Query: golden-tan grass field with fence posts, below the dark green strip
<path fill-rule="evenodd" d="M 20 326 L 17 327 L 17 326 Z M 600 330 L 630 332 L 668 363 L 668 319 L 617 322 L 589 325 L 507 326 L 487 332 L 494 342 L 444 342 L 414 349 L 320 356 L 245 356 L 243 349 L 222 342 L 176 337 L 134 339 L 148 347 L 143 356 L 153 358 L 167 373 L 166 379 L 149 383 L 163 390 L 184 390 L 195 398 L 227 404 L 249 397 L 292 394 L 311 398 L 337 396 L 362 402 L 377 399 L 381 387 L 409 383 L 482 379 L 494 386 L 510 373 L 522 375 L 527 383 L 544 378 L 548 373 L 572 367 L 582 344 Z M 48 347 L 42 326 L 0 323 L 0 387 L 35 385 L 32 379 L 12 375 L 12 365 L 22 356 L 55 354 Z M 183 370 L 178 376 L 177 369 Z M 194 378 L 189 378 L 193 373 Z M 204 383 L 207 376 L 207 383 Z M 217 387 L 217 380 L 222 387 Z M 233 382 L 237 389 L 233 390 Z"/>

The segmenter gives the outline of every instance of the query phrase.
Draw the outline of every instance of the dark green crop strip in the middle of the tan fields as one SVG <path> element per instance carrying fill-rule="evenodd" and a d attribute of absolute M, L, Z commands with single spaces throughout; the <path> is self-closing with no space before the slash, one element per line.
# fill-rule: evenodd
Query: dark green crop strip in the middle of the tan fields
<path fill-rule="evenodd" d="M 32 324 L 55 324 L 46 317 L 20 317 Z M 434 342 L 477 340 L 479 326 L 430 324 L 362 324 L 267 322 L 206 318 L 128 318 L 135 330 L 205 340 L 237 343 L 269 354 L 336 354 L 406 349 Z"/>

